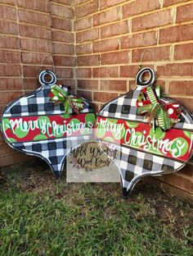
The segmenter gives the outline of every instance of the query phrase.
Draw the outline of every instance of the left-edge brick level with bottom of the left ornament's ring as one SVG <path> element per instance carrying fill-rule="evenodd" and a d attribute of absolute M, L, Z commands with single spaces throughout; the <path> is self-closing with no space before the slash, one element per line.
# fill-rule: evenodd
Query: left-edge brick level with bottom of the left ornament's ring
<path fill-rule="evenodd" d="M 0 80 L 0 90 L 22 90 L 23 80 L 21 78 L 2 78 Z"/>

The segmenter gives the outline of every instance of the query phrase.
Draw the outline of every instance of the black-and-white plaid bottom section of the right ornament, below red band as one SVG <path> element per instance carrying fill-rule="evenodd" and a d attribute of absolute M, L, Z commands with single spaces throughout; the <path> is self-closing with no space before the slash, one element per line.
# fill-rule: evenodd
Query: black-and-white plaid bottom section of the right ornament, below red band
<path fill-rule="evenodd" d="M 128 196 L 134 185 L 143 176 L 157 176 L 182 168 L 183 163 L 173 159 L 156 156 L 128 147 L 115 146 L 120 151 L 120 158 L 115 160 L 119 167 L 123 185 L 123 195 Z"/>

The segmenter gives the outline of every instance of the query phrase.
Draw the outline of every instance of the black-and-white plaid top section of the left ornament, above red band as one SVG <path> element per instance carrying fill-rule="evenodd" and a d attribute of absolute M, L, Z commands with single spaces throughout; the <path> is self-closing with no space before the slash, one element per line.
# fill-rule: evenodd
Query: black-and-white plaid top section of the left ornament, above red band
<path fill-rule="evenodd" d="M 65 109 L 63 104 L 54 105 L 48 97 L 52 87 L 44 85 L 32 94 L 27 94 L 9 104 L 3 112 L 3 117 L 29 117 L 43 115 L 61 115 Z M 82 113 L 94 112 L 88 100 L 84 100 Z"/>

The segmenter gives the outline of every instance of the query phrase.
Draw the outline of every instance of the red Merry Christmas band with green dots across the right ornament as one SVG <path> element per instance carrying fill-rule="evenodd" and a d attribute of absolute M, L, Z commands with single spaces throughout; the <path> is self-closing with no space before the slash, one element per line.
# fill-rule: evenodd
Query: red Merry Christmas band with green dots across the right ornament
<path fill-rule="evenodd" d="M 127 145 L 149 153 L 187 161 L 193 144 L 193 132 L 187 130 L 162 130 L 149 124 L 98 117 L 96 136 L 105 141 Z"/>

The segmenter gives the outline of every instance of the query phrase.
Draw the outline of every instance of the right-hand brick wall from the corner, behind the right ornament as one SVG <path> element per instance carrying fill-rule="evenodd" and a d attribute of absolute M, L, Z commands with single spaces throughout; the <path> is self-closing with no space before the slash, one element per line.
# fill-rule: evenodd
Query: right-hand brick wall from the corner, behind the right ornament
<path fill-rule="evenodd" d="M 182 0 L 76 1 L 78 93 L 97 109 L 135 87 L 141 53 L 155 55 L 164 95 L 193 112 L 193 2 Z M 152 66 L 146 53 L 144 66 Z M 193 196 L 193 166 L 163 176 L 162 186 Z M 160 183 L 159 183 L 160 184 Z M 175 190 L 174 190 L 175 189 Z"/>

